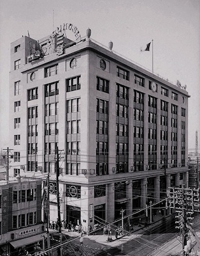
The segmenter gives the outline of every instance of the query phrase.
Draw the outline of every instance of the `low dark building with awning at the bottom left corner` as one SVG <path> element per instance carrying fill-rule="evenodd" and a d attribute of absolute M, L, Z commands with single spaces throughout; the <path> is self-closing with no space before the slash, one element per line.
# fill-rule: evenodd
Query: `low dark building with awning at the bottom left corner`
<path fill-rule="evenodd" d="M 0 255 L 33 255 L 41 250 L 41 180 L 0 181 Z"/>

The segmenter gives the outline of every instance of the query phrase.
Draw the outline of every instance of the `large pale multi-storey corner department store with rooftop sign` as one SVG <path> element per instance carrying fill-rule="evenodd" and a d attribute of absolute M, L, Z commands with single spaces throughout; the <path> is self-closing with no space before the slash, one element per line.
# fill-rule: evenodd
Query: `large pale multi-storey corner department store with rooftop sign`
<path fill-rule="evenodd" d="M 64 36 L 74 33 L 75 41 Z M 12 176 L 50 173 L 50 220 L 94 225 L 159 202 L 189 183 L 189 94 L 81 37 L 72 24 L 11 43 Z M 59 157 L 57 150 L 59 149 Z"/>

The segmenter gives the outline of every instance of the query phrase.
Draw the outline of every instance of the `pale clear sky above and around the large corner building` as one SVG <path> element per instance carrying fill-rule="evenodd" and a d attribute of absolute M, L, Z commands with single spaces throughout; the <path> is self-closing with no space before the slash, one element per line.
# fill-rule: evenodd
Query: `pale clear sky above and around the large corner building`
<path fill-rule="evenodd" d="M 108 46 L 148 70 L 154 40 L 154 74 L 176 81 L 189 92 L 189 150 L 196 131 L 200 152 L 200 1 L 199 0 L 1 0 L 0 1 L 0 149 L 8 145 L 10 43 L 22 35 L 38 40 L 64 23 L 82 36 Z M 67 35 L 70 36 L 71 35 Z M 75 40 L 75 38 L 71 38 Z"/>

